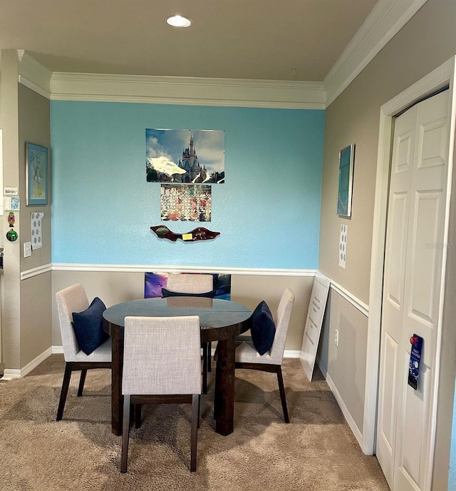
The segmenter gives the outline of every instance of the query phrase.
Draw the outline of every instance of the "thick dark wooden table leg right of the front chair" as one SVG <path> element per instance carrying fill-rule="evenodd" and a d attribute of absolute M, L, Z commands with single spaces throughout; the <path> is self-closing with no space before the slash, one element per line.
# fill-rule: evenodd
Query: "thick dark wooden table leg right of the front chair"
<path fill-rule="evenodd" d="M 214 419 L 215 431 L 229 435 L 234 426 L 234 338 L 219 340 L 215 371 Z"/>

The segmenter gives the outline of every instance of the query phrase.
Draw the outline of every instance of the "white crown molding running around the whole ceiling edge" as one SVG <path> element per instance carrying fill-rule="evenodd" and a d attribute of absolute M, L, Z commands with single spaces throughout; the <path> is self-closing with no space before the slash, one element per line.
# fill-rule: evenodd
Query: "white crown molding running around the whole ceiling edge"
<path fill-rule="evenodd" d="M 323 82 L 51 72 L 18 50 L 19 82 L 55 101 L 325 109 L 427 0 L 379 0 Z"/>

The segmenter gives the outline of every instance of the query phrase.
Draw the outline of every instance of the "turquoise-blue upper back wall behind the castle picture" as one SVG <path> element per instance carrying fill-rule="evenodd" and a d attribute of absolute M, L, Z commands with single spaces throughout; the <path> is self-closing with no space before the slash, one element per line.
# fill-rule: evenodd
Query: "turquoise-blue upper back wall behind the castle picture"
<path fill-rule="evenodd" d="M 211 222 L 160 221 L 145 128 L 225 131 Z M 53 263 L 318 268 L 323 132 L 324 111 L 51 101 Z M 220 236 L 173 243 L 162 223 Z"/>

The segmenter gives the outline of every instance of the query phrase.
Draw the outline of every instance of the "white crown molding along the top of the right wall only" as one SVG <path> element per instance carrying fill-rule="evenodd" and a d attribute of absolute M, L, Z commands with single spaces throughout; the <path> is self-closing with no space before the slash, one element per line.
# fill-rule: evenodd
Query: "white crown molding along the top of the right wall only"
<path fill-rule="evenodd" d="M 323 80 L 328 107 L 427 0 L 379 0 Z"/>

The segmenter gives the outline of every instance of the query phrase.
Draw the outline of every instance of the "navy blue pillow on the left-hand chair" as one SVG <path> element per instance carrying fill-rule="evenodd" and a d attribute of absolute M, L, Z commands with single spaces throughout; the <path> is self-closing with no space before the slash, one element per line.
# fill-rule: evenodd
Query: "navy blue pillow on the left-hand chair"
<path fill-rule="evenodd" d="M 103 312 L 106 309 L 103 300 L 95 297 L 89 307 L 82 312 L 73 312 L 73 329 L 79 349 L 90 355 L 108 339 L 103 330 Z"/>

